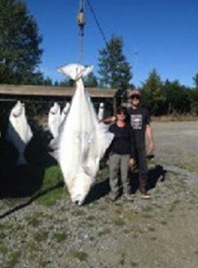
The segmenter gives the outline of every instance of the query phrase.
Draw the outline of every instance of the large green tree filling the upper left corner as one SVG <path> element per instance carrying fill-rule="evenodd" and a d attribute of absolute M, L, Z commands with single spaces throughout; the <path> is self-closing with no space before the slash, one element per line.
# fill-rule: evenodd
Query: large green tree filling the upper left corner
<path fill-rule="evenodd" d="M 37 25 L 20 0 L 0 1 L 0 84 L 37 84 L 43 53 Z"/>

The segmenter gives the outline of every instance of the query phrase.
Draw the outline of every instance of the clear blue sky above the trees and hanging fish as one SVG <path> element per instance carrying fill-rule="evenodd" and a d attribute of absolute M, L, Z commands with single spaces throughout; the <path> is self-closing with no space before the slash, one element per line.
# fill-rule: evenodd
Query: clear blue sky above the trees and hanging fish
<path fill-rule="evenodd" d="M 89 0 L 107 41 L 119 35 L 124 55 L 133 67 L 132 83 L 141 86 L 153 69 L 161 79 L 193 86 L 198 73 L 197 0 Z M 94 65 L 104 38 L 84 0 L 84 65 Z M 41 71 L 53 80 L 64 80 L 56 68 L 78 62 L 79 35 L 76 15 L 79 0 L 25 0 L 35 17 L 44 49 Z"/>

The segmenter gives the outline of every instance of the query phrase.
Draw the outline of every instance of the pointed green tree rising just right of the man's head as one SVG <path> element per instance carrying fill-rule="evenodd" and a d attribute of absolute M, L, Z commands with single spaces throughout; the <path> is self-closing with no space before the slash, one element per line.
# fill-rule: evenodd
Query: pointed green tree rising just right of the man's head
<path fill-rule="evenodd" d="M 146 106 L 152 114 L 159 115 L 164 114 L 163 104 L 165 97 L 163 95 L 163 82 L 156 70 L 149 74 L 148 79 L 144 82 L 142 87 L 143 104 Z"/>

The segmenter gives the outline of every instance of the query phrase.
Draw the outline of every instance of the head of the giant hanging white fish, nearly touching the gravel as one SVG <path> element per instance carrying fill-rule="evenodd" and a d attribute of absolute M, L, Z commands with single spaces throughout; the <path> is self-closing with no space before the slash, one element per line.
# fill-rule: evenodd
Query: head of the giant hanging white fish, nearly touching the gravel
<path fill-rule="evenodd" d="M 82 205 L 93 184 L 94 177 L 91 175 L 84 172 L 77 174 L 70 191 L 72 202 Z"/>

